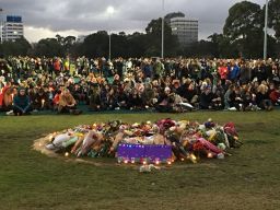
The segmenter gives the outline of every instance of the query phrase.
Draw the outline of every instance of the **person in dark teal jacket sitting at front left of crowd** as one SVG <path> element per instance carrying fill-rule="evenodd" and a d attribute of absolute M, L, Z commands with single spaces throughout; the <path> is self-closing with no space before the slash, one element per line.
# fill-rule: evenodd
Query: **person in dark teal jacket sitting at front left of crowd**
<path fill-rule="evenodd" d="M 19 94 L 13 98 L 13 113 L 15 116 L 30 115 L 32 110 L 30 96 L 23 86 L 19 89 Z"/>

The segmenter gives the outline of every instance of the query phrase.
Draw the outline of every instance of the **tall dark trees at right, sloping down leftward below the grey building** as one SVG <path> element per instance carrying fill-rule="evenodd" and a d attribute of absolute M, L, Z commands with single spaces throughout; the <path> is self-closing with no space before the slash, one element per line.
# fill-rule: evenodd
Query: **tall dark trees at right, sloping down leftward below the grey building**
<path fill-rule="evenodd" d="M 280 0 L 269 1 L 268 56 L 280 55 Z M 222 34 L 195 43 L 187 55 L 261 58 L 264 49 L 265 7 L 243 1 L 229 10 Z"/>

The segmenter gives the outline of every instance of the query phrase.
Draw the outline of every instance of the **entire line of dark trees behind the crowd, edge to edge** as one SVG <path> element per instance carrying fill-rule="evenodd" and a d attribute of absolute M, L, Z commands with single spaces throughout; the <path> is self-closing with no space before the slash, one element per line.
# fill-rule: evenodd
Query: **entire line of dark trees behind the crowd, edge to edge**
<path fill-rule="evenodd" d="M 229 10 L 222 34 L 212 34 L 207 40 L 194 43 L 190 47 L 182 47 L 177 37 L 172 35 L 168 25 L 170 18 L 184 16 L 183 13 L 171 13 L 165 16 L 165 56 L 189 57 L 262 57 L 265 8 L 257 3 L 243 1 L 235 3 Z M 161 55 L 162 20 L 152 20 L 145 33 L 126 35 L 124 32 L 112 34 L 112 57 L 141 57 Z M 280 0 L 269 1 L 268 56 L 280 55 Z M 33 46 L 21 38 L 0 45 L 0 51 L 8 55 L 32 56 L 108 56 L 108 34 L 100 31 L 89 35 L 83 43 L 77 43 L 75 37 L 44 38 Z"/>

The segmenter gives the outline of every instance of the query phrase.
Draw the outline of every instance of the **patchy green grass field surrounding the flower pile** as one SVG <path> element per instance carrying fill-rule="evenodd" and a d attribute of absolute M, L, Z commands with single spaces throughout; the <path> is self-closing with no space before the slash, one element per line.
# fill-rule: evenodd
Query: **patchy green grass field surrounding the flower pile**
<path fill-rule="evenodd" d="M 35 139 L 80 124 L 163 117 L 234 121 L 244 145 L 224 160 L 202 160 L 149 174 L 67 162 L 32 149 Z M 0 209 L 279 209 L 279 110 L 0 116 Z"/>

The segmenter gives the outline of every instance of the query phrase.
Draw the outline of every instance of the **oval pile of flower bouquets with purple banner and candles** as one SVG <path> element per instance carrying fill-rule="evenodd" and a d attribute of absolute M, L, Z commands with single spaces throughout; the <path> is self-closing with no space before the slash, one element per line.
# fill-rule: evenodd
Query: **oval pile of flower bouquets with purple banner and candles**
<path fill-rule="evenodd" d="M 224 159 L 242 142 L 233 122 L 219 126 L 212 119 L 203 124 L 161 119 L 156 122 L 81 125 L 49 136 L 47 150 L 66 156 L 115 158 L 118 163 L 196 163 L 201 158 Z"/>

